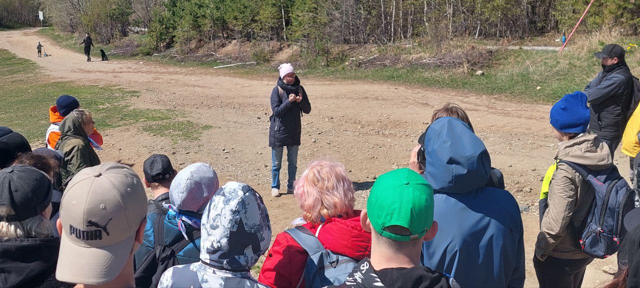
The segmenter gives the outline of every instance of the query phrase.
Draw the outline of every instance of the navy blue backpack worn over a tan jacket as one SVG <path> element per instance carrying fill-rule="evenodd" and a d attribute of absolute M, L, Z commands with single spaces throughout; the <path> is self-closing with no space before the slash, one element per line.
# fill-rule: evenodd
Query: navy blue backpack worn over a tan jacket
<path fill-rule="evenodd" d="M 615 254 L 627 234 L 622 220 L 628 211 L 634 209 L 635 191 L 620 176 L 616 165 L 593 171 L 572 162 L 559 163 L 572 167 L 595 190 L 595 201 L 591 204 L 591 211 L 580 237 L 582 250 L 591 257 L 600 259 Z"/>

